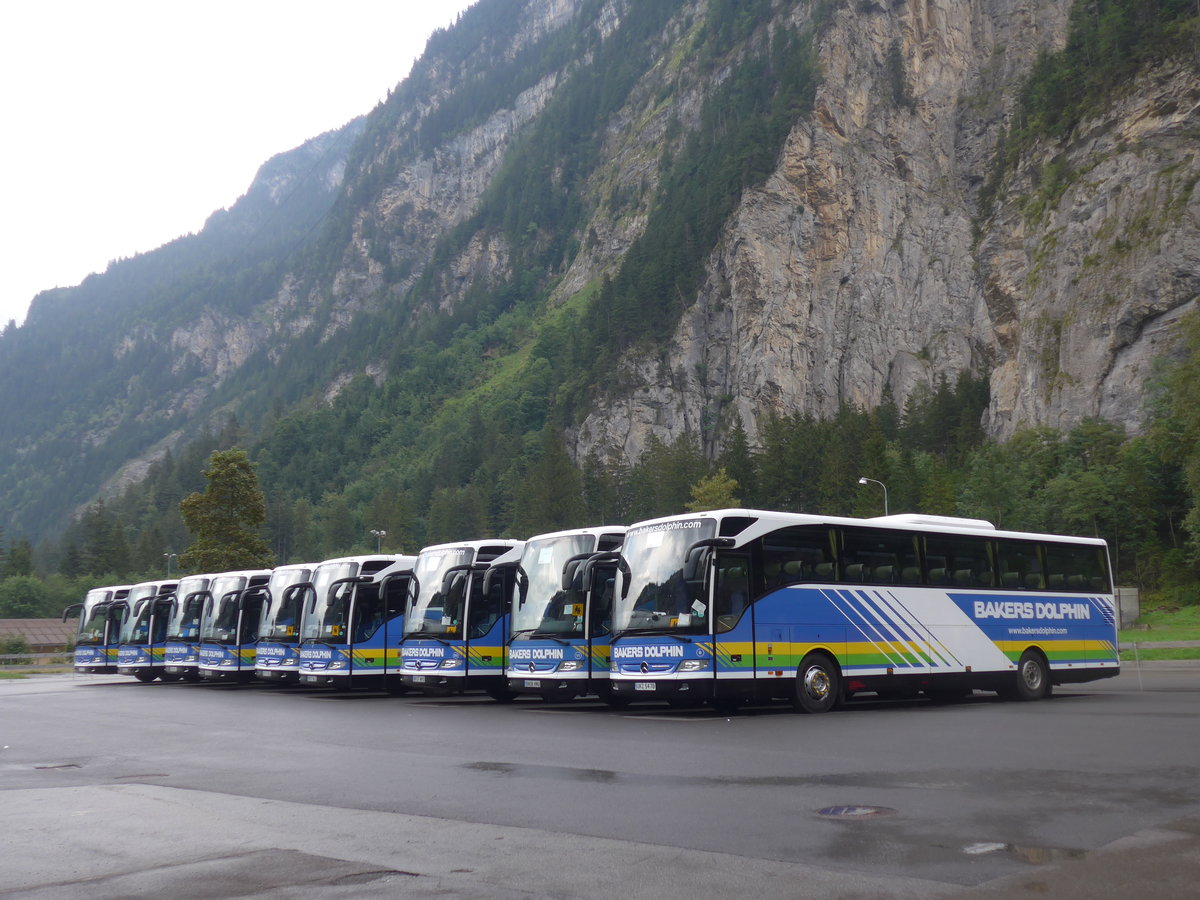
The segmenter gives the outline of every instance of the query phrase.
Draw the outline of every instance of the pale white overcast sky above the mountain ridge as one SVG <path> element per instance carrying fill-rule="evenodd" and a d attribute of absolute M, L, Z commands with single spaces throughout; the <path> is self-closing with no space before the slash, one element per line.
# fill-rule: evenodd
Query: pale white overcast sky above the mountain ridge
<path fill-rule="evenodd" d="M 269 157 L 367 113 L 473 0 L 6 0 L 0 328 L 199 230 Z"/>

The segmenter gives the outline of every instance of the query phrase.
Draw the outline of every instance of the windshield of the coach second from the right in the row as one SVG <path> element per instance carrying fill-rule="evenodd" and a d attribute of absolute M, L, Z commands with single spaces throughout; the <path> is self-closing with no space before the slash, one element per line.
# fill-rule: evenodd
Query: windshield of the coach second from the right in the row
<path fill-rule="evenodd" d="M 583 595 L 563 590 L 563 564 L 595 548 L 595 535 L 572 534 L 529 541 L 521 553 L 514 637 L 583 635 Z"/>

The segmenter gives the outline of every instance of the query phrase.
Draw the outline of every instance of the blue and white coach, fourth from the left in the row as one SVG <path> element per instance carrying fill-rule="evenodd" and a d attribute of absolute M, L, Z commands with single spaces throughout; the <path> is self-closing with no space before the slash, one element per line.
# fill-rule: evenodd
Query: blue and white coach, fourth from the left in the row
<path fill-rule="evenodd" d="M 270 569 L 212 576 L 200 614 L 199 673 L 206 682 L 245 684 L 254 677 L 254 643 Z"/>

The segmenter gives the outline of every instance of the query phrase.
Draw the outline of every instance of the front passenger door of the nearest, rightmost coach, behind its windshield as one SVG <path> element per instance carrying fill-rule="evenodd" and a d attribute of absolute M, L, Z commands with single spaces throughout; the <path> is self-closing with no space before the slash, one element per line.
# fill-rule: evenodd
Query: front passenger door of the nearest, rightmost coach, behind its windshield
<path fill-rule="evenodd" d="M 750 604 L 750 554 L 730 551 L 710 553 L 709 599 L 713 636 L 715 697 L 740 697 L 754 692 L 754 607 Z"/>

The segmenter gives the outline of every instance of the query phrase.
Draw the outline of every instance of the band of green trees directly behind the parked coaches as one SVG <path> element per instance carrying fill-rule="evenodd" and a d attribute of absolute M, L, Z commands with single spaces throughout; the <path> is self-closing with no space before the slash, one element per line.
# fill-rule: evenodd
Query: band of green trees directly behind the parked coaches
<path fill-rule="evenodd" d="M 582 524 L 630 523 L 719 506 L 876 516 L 887 487 L 888 511 L 955 515 L 1010 530 L 1094 535 L 1109 541 L 1118 583 L 1151 601 L 1200 601 L 1200 314 L 1186 319 L 1184 350 L 1164 365 L 1153 420 L 1127 436 L 1104 421 L 1068 433 L 1019 432 L 1003 443 L 980 428 L 986 379 L 942 382 L 902 408 L 886 401 L 871 410 L 842 407 L 827 420 L 776 418 L 751 445 L 734 427 L 715 460 L 694 439 L 653 443 L 632 464 L 617 452 L 572 463 L 552 427 L 526 448 L 528 468 L 498 481 L 470 480 L 426 492 L 379 490 L 364 482 L 317 502 L 288 499 L 288 486 L 322 473 L 288 472 L 270 463 L 270 446 L 254 452 L 266 496 L 263 538 L 276 562 L 296 563 L 372 552 L 415 553 L 421 546 L 482 536 L 524 539 Z M 349 403 L 346 404 L 350 407 Z M 350 415 L 336 404 L 287 433 L 288 440 L 341 444 L 368 440 L 394 425 L 378 410 Z M 338 415 L 342 412 L 342 415 Z M 461 452 L 480 452 L 479 437 Z M 466 438 L 466 434 L 460 437 Z M 247 442 L 230 420 L 220 433 L 167 457 L 119 498 L 97 502 L 59 542 L 0 545 L 0 617 L 53 616 L 97 583 L 163 577 L 191 542 L 180 500 L 203 486 L 216 449 Z M 301 458 L 318 462 L 316 455 Z M 456 464 L 455 460 L 445 464 Z M 386 532 L 377 539 L 372 530 Z M 176 565 L 176 574 L 179 568 Z"/>

